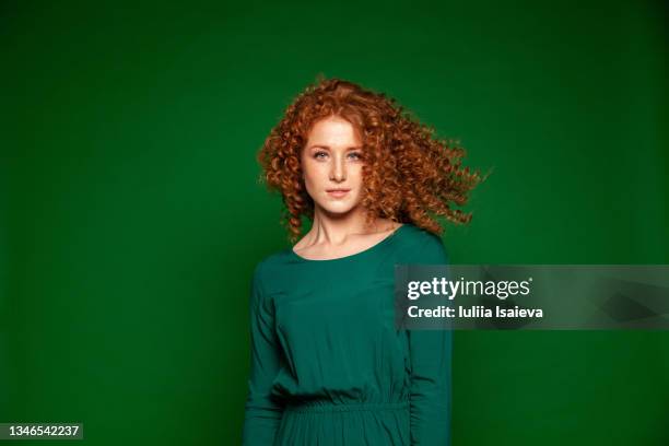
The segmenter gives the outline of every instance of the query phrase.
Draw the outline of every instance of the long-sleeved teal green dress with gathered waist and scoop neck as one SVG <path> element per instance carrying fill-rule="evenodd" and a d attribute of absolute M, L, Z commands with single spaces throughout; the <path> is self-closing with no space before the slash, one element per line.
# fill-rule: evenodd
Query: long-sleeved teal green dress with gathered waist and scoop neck
<path fill-rule="evenodd" d="M 449 445 L 453 332 L 397 330 L 394 303 L 395 265 L 446 262 L 403 224 L 351 256 L 258 263 L 244 445 Z"/>

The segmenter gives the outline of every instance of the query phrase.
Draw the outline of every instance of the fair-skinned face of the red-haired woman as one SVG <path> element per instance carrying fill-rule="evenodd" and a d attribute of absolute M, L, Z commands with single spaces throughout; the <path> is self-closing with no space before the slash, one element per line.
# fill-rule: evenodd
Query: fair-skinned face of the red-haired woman
<path fill-rule="evenodd" d="M 302 151 L 306 190 L 316 207 L 342 214 L 362 198 L 362 141 L 348 120 L 333 116 L 314 124 Z"/>

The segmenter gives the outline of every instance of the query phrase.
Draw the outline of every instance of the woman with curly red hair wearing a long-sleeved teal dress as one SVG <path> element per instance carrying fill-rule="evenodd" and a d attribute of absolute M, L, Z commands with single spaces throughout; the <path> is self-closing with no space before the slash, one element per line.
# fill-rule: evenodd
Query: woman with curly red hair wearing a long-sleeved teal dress
<path fill-rule="evenodd" d="M 319 79 L 259 153 L 291 242 L 256 268 L 245 445 L 448 445 L 450 331 L 395 327 L 394 267 L 446 263 L 480 180 L 392 98 Z M 432 215 L 431 215 L 432 214 Z"/>

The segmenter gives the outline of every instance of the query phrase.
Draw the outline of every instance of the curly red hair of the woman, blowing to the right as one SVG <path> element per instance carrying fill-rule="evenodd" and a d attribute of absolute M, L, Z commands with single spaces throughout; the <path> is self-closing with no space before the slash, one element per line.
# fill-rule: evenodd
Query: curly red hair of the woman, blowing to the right
<path fill-rule="evenodd" d="M 451 209 L 465 204 L 482 180 L 478 172 L 461 167 L 462 148 L 435 139 L 432 127 L 384 93 L 319 75 L 289 105 L 257 156 L 263 169 L 260 179 L 283 196 L 291 243 L 301 235 L 302 216 L 314 219 L 314 200 L 302 176 L 302 150 L 314 124 L 330 116 L 348 120 L 362 137 L 365 224 L 385 218 L 441 235 L 435 216 L 454 223 L 471 220 L 471 213 Z"/>

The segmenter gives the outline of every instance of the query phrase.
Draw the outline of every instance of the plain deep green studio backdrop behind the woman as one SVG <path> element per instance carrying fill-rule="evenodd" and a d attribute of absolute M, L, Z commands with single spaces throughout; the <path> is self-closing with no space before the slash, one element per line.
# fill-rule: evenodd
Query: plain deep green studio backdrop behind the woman
<path fill-rule="evenodd" d="M 0 422 L 240 442 L 255 154 L 318 72 L 493 168 L 453 262 L 669 263 L 666 7 L 461 3 L 0 3 Z M 455 339 L 455 446 L 669 444 L 669 332 Z"/>

